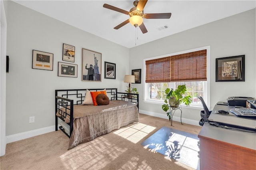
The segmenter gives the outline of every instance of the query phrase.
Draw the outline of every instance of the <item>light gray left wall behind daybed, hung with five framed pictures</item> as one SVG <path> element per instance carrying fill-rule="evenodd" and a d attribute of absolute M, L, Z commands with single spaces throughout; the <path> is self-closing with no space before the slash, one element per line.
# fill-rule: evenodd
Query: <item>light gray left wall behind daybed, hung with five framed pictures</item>
<path fill-rule="evenodd" d="M 54 90 L 118 88 L 130 72 L 129 49 L 8 1 L 6 75 L 6 136 L 54 125 Z M 78 77 L 58 77 L 63 43 L 73 45 Z M 102 81 L 82 80 L 82 48 L 102 53 Z M 53 71 L 32 69 L 32 50 L 54 54 Z M 116 79 L 104 79 L 104 61 L 116 63 Z M 66 62 L 66 61 L 62 61 Z M 71 63 L 71 62 L 66 62 Z M 99 64 L 99 63 L 98 63 Z M 35 116 L 35 123 L 28 123 Z"/>

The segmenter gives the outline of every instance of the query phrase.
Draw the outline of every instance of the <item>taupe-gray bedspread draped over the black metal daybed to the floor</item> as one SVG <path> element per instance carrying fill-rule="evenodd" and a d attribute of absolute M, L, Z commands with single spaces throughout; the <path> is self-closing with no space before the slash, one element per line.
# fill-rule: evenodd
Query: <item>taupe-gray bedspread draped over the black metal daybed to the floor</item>
<path fill-rule="evenodd" d="M 68 149 L 138 121 L 138 108 L 132 102 L 114 100 L 109 105 L 74 105 Z"/>

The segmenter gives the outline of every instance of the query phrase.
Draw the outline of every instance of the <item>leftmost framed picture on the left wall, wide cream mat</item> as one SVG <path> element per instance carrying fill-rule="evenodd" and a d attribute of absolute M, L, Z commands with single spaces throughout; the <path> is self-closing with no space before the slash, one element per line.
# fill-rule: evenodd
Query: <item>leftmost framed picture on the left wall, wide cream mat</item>
<path fill-rule="evenodd" d="M 53 70 L 53 54 L 33 49 L 32 69 Z"/>

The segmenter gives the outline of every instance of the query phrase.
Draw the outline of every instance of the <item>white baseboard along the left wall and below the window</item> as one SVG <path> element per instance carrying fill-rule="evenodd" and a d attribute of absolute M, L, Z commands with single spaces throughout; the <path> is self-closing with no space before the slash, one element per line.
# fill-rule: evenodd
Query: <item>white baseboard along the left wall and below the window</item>
<path fill-rule="evenodd" d="M 141 110 L 141 109 L 139 110 L 139 113 L 142 113 L 144 115 L 154 116 L 154 117 L 160 117 L 160 118 L 163 118 L 163 119 L 168 119 L 168 117 L 164 114 L 154 113 L 154 112 L 150 112 L 150 111 L 144 111 L 144 110 Z M 172 120 L 180 122 L 180 117 L 175 117 L 174 116 L 172 118 Z M 187 123 L 187 124 L 190 124 L 190 125 L 199 126 L 198 121 L 191 120 L 191 119 L 186 119 L 186 118 L 182 118 L 182 123 Z M 59 127 L 60 127 L 60 125 L 58 125 L 58 129 L 59 129 Z M 45 133 L 49 133 L 49 132 L 53 132 L 53 131 L 55 131 L 55 125 L 50 126 L 50 127 L 36 129 L 36 130 L 30 130 L 28 132 L 12 134 L 12 135 L 6 136 L 6 143 L 15 142 L 15 141 L 18 141 L 18 140 L 30 138 L 30 137 L 33 137 L 33 136 L 37 136 L 37 135 L 40 135 L 40 134 L 45 134 Z"/>

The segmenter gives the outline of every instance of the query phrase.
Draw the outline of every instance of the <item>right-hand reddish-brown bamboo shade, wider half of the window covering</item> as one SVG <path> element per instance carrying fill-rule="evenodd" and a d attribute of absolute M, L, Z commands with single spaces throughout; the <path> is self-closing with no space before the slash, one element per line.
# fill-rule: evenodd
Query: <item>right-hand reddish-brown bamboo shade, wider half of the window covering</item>
<path fill-rule="evenodd" d="M 171 56 L 171 82 L 206 81 L 206 49 Z"/>

